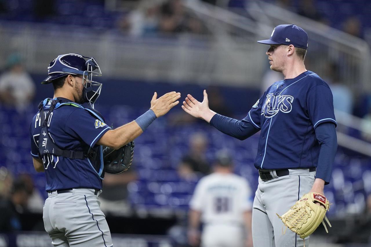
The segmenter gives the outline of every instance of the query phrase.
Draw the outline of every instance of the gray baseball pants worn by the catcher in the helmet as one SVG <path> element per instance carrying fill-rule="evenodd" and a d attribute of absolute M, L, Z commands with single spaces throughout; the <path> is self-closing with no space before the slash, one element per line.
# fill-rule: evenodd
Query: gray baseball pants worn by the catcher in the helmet
<path fill-rule="evenodd" d="M 93 189 L 48 193 L 44 227 L 55 247 L 111 247 L 108 224 Z"/>

